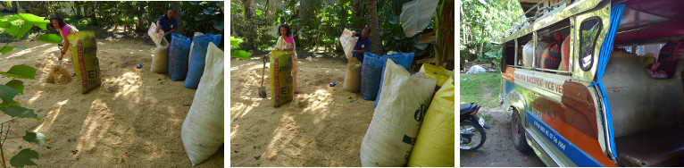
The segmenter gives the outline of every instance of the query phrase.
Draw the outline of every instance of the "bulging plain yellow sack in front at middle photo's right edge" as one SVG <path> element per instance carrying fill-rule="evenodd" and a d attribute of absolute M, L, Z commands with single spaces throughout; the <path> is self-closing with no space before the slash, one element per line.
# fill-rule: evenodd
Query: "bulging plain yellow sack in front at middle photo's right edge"
<path fill-rule="evenodd" d="M 448 78 L 425 113 L 408 166 L 454 167 L 454 97 L 454 81 Z"/>

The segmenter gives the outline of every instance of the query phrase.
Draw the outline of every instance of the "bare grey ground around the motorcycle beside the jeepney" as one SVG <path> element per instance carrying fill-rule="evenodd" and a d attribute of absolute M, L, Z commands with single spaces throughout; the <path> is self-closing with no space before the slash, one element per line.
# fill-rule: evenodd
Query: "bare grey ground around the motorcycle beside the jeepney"
<path fill-rule="evenodd" d="M 487 132 L 485 144 L 474 152 L 461 152 L 463 167 L 545 167 L 534 153 L 521 153 L 513 146 L 511 132 L 511 113 L 501 108 L 480 108 L 480 117 L 489 118 L 491 127 Z"/>

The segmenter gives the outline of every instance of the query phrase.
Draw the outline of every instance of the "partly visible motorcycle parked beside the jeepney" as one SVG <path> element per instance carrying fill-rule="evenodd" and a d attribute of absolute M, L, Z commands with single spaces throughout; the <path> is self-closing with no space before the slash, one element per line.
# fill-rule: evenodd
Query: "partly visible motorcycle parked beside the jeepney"
<path fill-rule="evenodd" d="M 475 151 L 487 140 L 485 129 L 489 130 L 490 127 L 484 118 L 476 115 L 480 107 L 476 103 L 461 104 L 461 151 Z"/>

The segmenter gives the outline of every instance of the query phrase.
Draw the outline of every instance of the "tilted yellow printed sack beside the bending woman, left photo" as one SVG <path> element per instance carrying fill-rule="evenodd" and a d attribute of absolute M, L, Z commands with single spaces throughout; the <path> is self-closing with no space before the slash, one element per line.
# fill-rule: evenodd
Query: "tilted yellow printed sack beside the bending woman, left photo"
<path fill-rule="evenodd" d="M 93 31 L 79 31 L 67 36 L 71 45 L 71 59 L 80 93 L 88 93 L 100 86 L 100 62 L 97 59 L 97 43 Z"/>

